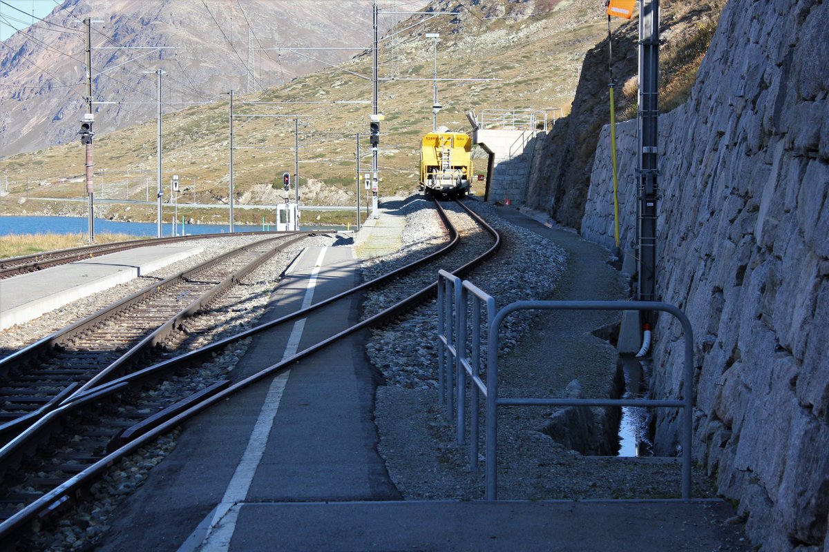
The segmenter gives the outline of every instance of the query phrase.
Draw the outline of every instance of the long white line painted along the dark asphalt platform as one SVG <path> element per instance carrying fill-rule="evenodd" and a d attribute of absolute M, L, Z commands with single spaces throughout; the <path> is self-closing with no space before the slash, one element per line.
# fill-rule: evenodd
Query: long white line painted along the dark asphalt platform
<path fill-rule="evenodd" d="M 305 290 L 305 297 L 303 298 L 302 308 L 306 309 L 311 306 L 313 300 L 313 291 L 317 286 L 317 276 L 320 268 L 322 268 L 322 260 L 327 252 L 327 247 L 322 247 L 319 252 L 317 262 L 314 263 L 311 277 L 308 278 L 308 288 Z M 299 340 L 303 336 L 303 329 L 305 328 L 305 319 L 299 319 L 293 324 L 293 330 L 288 338 L 288 344 L 285 347 L 285 352 L 282 359 L 293 357 L 299 348 Z M 211 517 L 210 525 L 206 528 L 203 524 L 200 529 L 206 532 L 204 540 L 201 540 L 201 548 L 204 552 L 225 552 L 230 549 L 230 539 L 233 538 L 233 533 L 236 528 L 236 519 L 239 516 L 241 503 L 245 502 L 250 490 L 250 484 L 253 482 L 256 470 L 259 468 L 259 462 L 264 455 L 264 449 L 268 444 L 268 436 L 270 430 L 274 425 L 274 418 L 276 412 L 279 410 L 279 401 L 282 400 L 282 393 L 285 390 L 285 385 L 288 383 L 288 374 L 290 371 L 283 372 L 279 376 L 274 377 L 268 389 L 268 394 L 265 396 L 262 410 L 259 411 L 259 418 L 256 420 L 254 430 L 250 434 L 248 445 L 245 448 L 245 454 L 242 454 L 239 465 L 236 467 L 233 477 L 230 478 L 230 483 L 227 485 L 224 497 L 214 511 L 208 517 Z M 198 532 L 200 529 L 196 529 Z M 185 542 L 179 549 L 192 550 L 193 535 Z"/>

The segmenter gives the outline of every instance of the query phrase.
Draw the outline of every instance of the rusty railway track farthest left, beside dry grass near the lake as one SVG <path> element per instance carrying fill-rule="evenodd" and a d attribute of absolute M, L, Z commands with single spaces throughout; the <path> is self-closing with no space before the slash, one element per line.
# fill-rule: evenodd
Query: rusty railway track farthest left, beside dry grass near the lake
<path fill-rule="evenodd" d="M 261 232 L 240 232 L 235 236 L 261 235 Z M 227 234 L 196 234 L 193 236 L 177 236 L 170 238 L 148 238 L 129 240 L 128 242 L 95 243 L 92 245 L 71 247 L 59 251 L 35 253 L 22 257 L 11 257 L 0 260 L 0 280 L 28 272 L 35 272 L 51 266 L 65 265 L 69 262 L 81 261 L 93 257 L 100 257 L 109 253 L 126 251 L 135 247 L 147 247 L 162 243 L 187 242 L 194 239 L 226 237 Z"/>

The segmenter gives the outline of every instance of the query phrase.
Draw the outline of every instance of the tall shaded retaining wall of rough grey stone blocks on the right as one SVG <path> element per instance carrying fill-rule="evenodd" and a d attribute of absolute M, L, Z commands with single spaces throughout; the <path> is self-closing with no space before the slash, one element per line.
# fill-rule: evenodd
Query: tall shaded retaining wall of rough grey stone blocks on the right
<path fill-rule="evenodd" d="M 695 328 L 695 458 L 761 550 L 829 550 L 829 4 L 760 10 L 728 2 L 691 98 L 660 118 L 657 295 Z M 619 132 L 628 245 L 636 126 Z M 582 221 L 607 244 L 608 159 Z M 657 396 L 684 392 L 680 334 L 660 319 Z"/>

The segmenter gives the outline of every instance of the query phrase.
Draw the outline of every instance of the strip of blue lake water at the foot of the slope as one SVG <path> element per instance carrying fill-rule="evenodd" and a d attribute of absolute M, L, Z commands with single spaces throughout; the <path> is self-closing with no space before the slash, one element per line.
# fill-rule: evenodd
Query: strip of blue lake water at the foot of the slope
<path fill-rule="evenodd" d="M 37 233 L 82 233 L 88 232 L 89 218 L 86 217 L 3 217 L 0 216 L 0 236 L 8 234 L 37 234 Z M 114 220 L 95 218 L 95 233 L 124 233 L 133 236 L 155 237 L 157 223 L 126 223 Z M 259 232 L 262 225 L 244 226 L 234 224 L 235 232 Z M 275 230 L 270 225 L 267 230 Z M 313 229 L 313 228 L 303 228 Z M 188 234 L 226 233 L 227 224 L 186 224 L 184 232 Z M 182 233 L 182 225 L 178 225 L 178 233 Z M 172 223 L 162 224 L 162 234 L 172 236 Z"/>

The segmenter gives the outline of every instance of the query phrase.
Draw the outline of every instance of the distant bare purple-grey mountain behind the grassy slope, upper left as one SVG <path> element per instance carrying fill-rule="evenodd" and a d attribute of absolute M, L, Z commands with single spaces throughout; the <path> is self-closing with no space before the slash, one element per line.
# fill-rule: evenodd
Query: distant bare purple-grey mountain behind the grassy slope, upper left
<path fill-rule="evenodd" d="M 337 63 L 359 51 L 301 55 L 264 48 L 371 44 L 366 0 L 65 0 L 45 17 L 48 23 L 17 32 L 0 50 L 2 156 L 75 139 L 85 111 L 86 17 L 102 21 L 93 24 L 93 96 L 119 102 L 95 108 L 99 136 L 155 117 L 156 77 L 143 71 L 167 71 L 162 96 L 169 113 L 185 102 L 215 102 L 230 89 L 250 93 L 286 84 L 322 69 L 312 58 Z M 401 19 L 382 17 L 382 31 Z M 147 46 L 176 49 L 132 49 Z"/>

